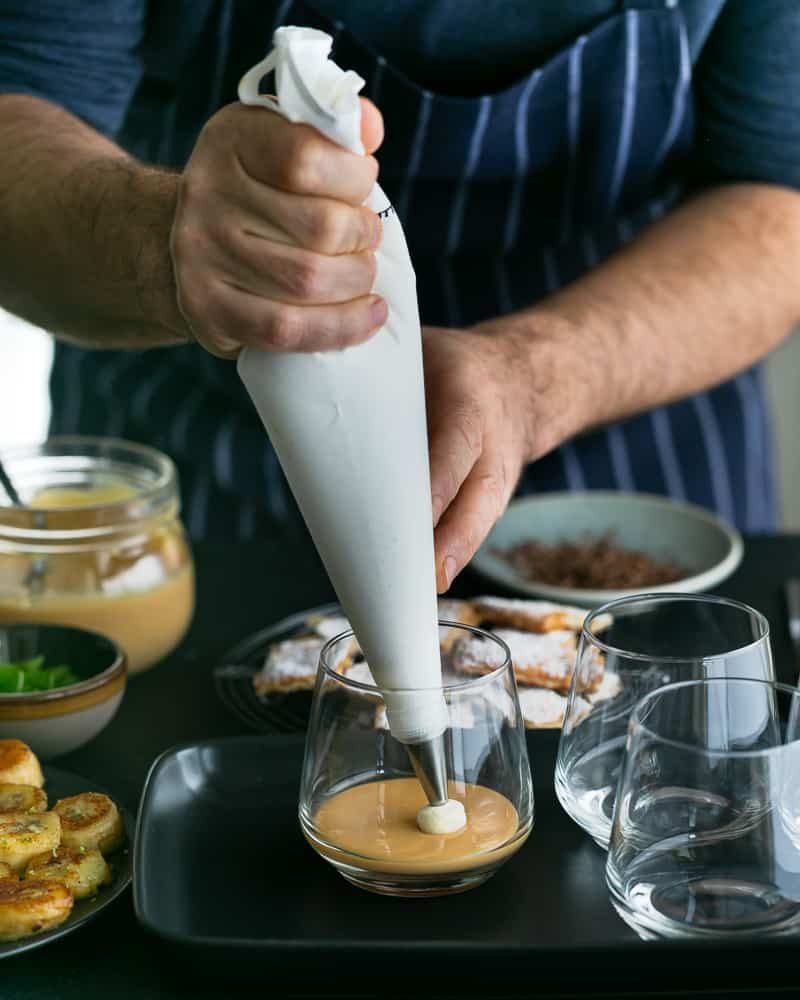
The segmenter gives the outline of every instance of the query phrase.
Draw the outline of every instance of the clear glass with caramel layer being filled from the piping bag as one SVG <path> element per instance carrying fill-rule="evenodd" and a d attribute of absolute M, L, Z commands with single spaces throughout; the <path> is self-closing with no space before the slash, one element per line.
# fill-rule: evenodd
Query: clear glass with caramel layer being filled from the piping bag
<path fill-rule="evenodd" d="M 353 633 L 332 639 L 320 657 L 300 826 L 344 878 L 373 892 L 433 896 L 472 888 L 519 850 L 533 825 L 525 727 L 508 647 L 480 629 L 450 622 L 440 623 L 440 635 L 445 649 L 464 635 L 498 647 L 499 666 L 487 664 L 480 677 L 451 673 L 444 656 L 449 792 L 467 813 L 467 826 L 457 834 L 418 830 L 425 795 L 403 744 L 388 728 L 381 691 L 364 682 L 365 665 L 352 665 Z M 349 798 L 337 799 L 342 795 Z M 334 821 L 337 803 L 341 812 Z"/>

